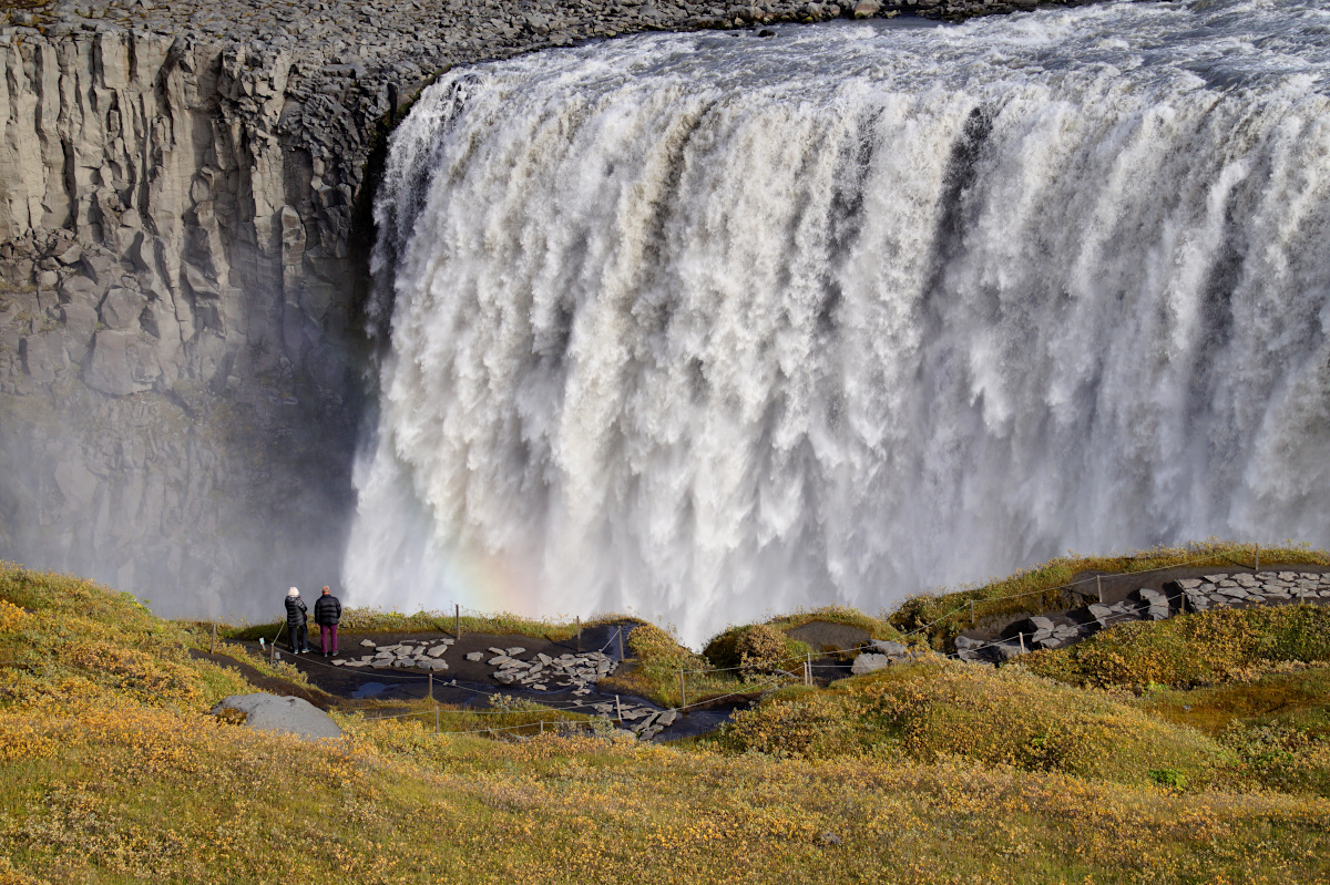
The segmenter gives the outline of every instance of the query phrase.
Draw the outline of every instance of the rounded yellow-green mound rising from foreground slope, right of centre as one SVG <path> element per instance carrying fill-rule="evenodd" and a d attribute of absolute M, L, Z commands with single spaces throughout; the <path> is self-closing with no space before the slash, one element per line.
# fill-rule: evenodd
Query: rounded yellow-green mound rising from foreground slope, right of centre
<path fill-rule="evenodd" d="M 827 757 L 888 753 L 920 763 L 960 756 L 1119 783 L 1177 772 L 1206 783 L 1226 759 L 1201 732 L 1125 699 L 1085 692 L 1021 667 L 940 658 L 793 690 L 739 714 L 721 738 L 735 751 Z"/>

